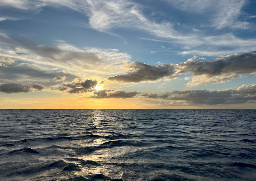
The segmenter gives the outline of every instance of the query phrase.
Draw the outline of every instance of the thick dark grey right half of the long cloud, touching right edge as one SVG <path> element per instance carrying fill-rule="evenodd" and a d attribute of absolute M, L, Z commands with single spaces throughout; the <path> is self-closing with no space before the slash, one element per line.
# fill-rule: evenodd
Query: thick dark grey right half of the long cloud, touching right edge
<path fill-rule="evenodd" d="M 206 85 L 209 83 L 224 83 L 239 75 L 256 73 L 256 51 L 243 54 L 232 54 L 210 61 L 198 59 L 193 62 L 177 64 L 176 70 L 194 75 L 188 86 Z"/>

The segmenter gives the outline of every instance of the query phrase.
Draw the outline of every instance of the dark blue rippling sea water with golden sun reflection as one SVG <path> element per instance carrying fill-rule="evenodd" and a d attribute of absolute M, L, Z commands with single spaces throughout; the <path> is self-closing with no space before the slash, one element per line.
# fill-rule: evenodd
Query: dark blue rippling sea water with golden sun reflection
<path fill-rule="evenodd" d="M 256 110 L 0 110 L 0 180 L 255 181 Z"/>

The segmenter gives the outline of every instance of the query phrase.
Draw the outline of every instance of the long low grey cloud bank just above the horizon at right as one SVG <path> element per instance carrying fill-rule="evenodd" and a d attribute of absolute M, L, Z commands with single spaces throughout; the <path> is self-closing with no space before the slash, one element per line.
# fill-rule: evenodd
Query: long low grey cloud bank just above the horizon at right
<path fill-rule="evenodd" d="M 256 102 L 256 84 L 242 85 L 236 90 L 174 90 L 165 93 L 147 92 L 141 98 L 172 100 L 175 104 L 239 104 Z"/>

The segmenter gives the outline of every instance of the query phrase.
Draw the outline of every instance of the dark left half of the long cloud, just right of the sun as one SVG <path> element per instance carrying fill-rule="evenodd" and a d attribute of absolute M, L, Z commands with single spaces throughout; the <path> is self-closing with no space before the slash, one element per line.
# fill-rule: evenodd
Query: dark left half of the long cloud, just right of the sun
<path fill-rule="evenodd" d="M 173 76 L 173 64 L 152 66 L 140 62 L 132 62 L 130 64 L 124 64 L 123 68 L 127 70 L 128 74 L 111 76 L 108 77 L 108 80 L 119 83 L 139 83 L 157 81 L 164 77 L 175 77 Z"/>

